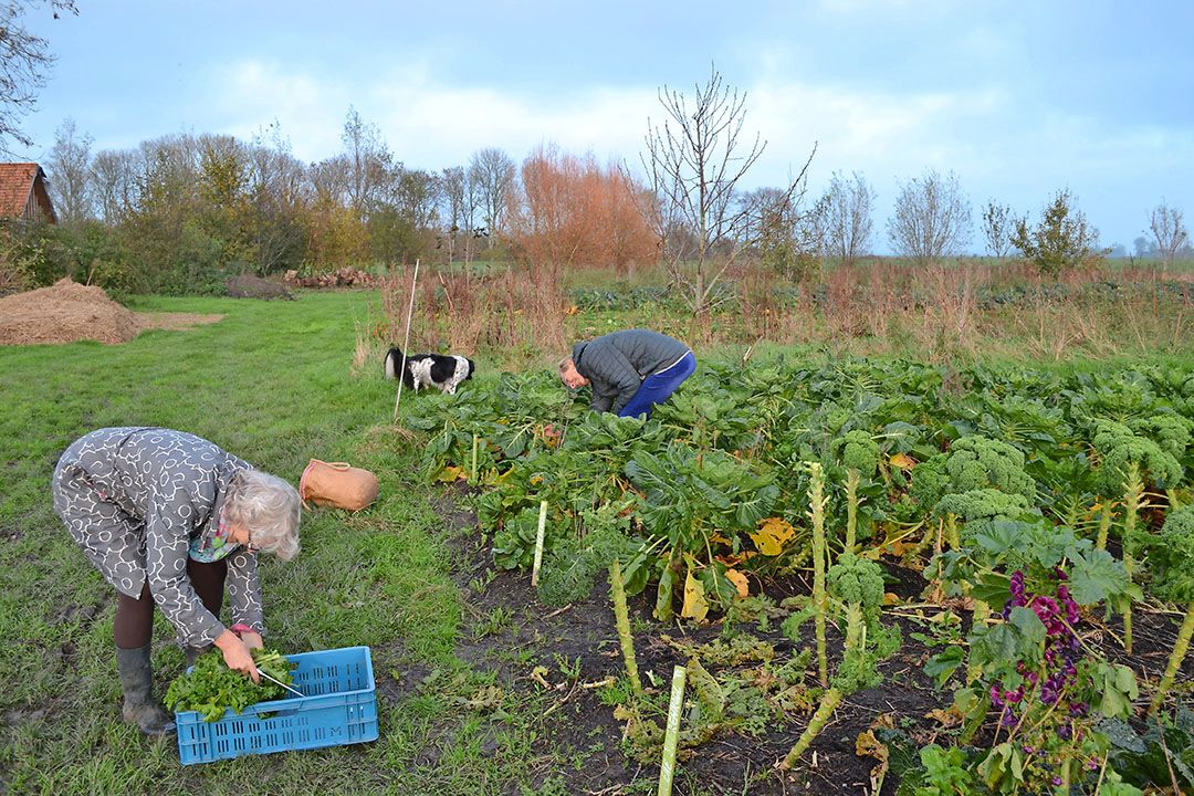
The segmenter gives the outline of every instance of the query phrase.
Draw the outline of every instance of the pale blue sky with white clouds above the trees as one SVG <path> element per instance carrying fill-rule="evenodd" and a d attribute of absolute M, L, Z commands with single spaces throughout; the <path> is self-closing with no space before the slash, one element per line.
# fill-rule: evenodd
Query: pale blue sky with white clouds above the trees
<path fill-rule="evenodd" d="M 989 200 L 1039 217 L 1070 190 L 1104 245 L 1162 202 L 1194 216 L 1194 2 L 1188 0 L 78 0 L 26 14 L 57 62 L 23 129 L 44 161 L 66 118 L 121 149 L 177 132 L 337 154 L 349 107 L 407 167 L 521 162 L 554 143 L 641 168 L 661 87 L 715 64 L 767 142 L 744 187 L 810 191 L 861 172 L 874 249 L 901 185 L 953 171 L 981 252 Z M 53 180 L 53 174 L 50 174 Z M 1187 226 L 1192 226 L 1187 222 Z"/>

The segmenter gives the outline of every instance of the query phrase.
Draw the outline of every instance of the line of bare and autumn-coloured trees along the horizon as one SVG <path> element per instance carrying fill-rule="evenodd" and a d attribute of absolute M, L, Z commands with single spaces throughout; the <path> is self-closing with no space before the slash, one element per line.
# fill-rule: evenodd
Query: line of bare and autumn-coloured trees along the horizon
<path fill-rule="evenodd" d="M 510 259 L 633 272 L 663 263 L 695 310 L 737 263 L 807 280 L 826 261 L 853 265 L 874 245 L 876 193 L 860 172 L 835 172 L 811 196 L 808 154 L 780 187 L 740 183 L 767 142 L 744 134 L 746 95 L 714 68 L 695 92 L 664 87 L 641 171 L 542 146 L 523 162 L 484 148 L 467 163 L 406 166 L 350 107 L 337 154 L 303 162 L 277 124 L 250 141 L 168 135 L 93 152 L 67 119 L 45 162 L 60 224 L 8 236 L 0 286 L 62 274 L 123 291 L 222 292 L 229 276 L 341 266 Z M 928 169 L 899 185 L 887 241 L 916 264 L 962 254 L 975 232 L 958 175 Z M 1151 214 L 1147 251 L 1189 255 L 1182 211 Z M 1045 273 L 1108 253 L 1069 191 L 1039 220 L 995 200 L 979 211 L 986 251 Z M 1141 247 L 1140 240 L 1137 248 Z"/>

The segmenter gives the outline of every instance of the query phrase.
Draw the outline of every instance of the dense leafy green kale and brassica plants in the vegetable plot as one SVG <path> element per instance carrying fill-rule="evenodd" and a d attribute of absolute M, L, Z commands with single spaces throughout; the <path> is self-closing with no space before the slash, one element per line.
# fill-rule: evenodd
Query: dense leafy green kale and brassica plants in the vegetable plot
<path fill-rule="evenodd" d="M 897 556 L 923 569 L 927 599 L 973 616 L 965 644 L 942 641 L 924 666 L 953 690 L 960 726 L 905 772 L 906 792 L 1139 792 L 1116 769 L 1151 783 L 1125 757 L 1156 746 L 1137 732 L 1146 706 L 1175 733 L 1174 786 L 1194 786 L 1194 727 L 1177 729 L 1190 723 L 1188 686 L 1176 689 L 1178 710 L 1164 710 L 1194 621 L 1149 683 L 1088 641 L 1097 625 L 1131 653 L 1133 605 L 1194 606 L 1194 508 L 1182 507 L 1194 369 L 778 358 L 702 364 L 648 420 L 590 413 L 549 374 L 507 374 L 420 406 L 412 424 L 429 433 L 427 476 L 484 488 L 478 514 L 497 566 L 531 564 L 546 505 L 544 603 L 583 599 L 617 561 L 615 580 L 630 594 L 653 588 L 664 622 L 728 619 L 750 605 L 753 618 L 784 617 L 796 642 L 813 622 L 817 684 L 804 683 L 810 654 L 768 661 L 769 683 L 790 680 L 792 716 L 820 705 L 787 765 L 900 647 L 874 563 Z M 761 585 L 806 567 L 812 596 L 761 607 Z M 826 655 L 826 621 L 845 628 L 841 655 Z M 701 710 L 682 746 L 730 722 L 730 680 L 689 652 Z M 647 702 L 632 697 L 620 714 L 645 757 L 659 735 Z"/>

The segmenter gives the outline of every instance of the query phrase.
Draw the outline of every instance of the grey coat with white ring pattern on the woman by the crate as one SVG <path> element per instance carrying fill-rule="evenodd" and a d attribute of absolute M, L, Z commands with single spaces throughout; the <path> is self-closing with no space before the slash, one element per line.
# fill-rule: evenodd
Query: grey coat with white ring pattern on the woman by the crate
<path fill-rule="evenodd" d="M 170 428 L 100 428 L 67 448 L 54 469 L 54 510 L 75 543 L 122 594 L 149 591 L 179 642 L 211 643 L 224 627 L 186 576 L 192 538 L 210 537 L 233 476 L 251 465 L 193 434 Z M 260 633 L 257 555 L 228 555 L 234 623 Z"/>

